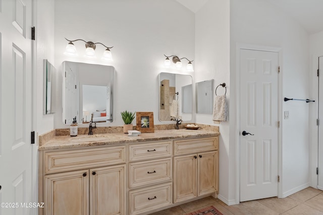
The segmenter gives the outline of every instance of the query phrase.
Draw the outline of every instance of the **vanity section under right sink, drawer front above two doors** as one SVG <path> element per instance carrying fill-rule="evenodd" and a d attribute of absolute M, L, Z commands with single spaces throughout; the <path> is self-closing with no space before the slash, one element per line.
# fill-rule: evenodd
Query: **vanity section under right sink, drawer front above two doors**
<path fill-rule="evenodd" d="M 174 157 L 174 203 L 217 193 L 218 145 L 218 138 L 174 140 L 174 154 L 181 155 Z"/>

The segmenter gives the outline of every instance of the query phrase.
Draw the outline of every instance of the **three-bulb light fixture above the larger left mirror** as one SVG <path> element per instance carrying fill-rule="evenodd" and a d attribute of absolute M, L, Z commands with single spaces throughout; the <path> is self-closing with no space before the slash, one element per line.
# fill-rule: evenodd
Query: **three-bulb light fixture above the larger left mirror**
<path fill-rule="evenodd" d="M 102 58 L 106 59 L 106 60 L 112 60 L 112 54 L 111 54 L 110 49 L 113 48 L 113 46 L 112 47 L 107 47 L 104 44 L 99 43 L 99 42 L 97 42 L 97 43 L 93 43 L 91 41 L 86 42 L 85 40 L 82 40 L 82 39 L 76 39 L 76 40 L 68 40 L 68 39 L 66 39 L 66 40 L 69 41 L 69 44 L 67 44 L 67 46 L 65 48 L 65 52 L 64 52 L 64 54 L 66 54 L 66 55 L 70 55 L 70 56 L 77 55 L 77 51 L 76 51 L 76 48 L 75 48 L 75 45 L 74 45 L 73 42 L 81 40 L 81 41 L 85 42 L 85 47 L 86 47 L 85 56 L 87 56 L 87 57 L 95 57 L 95 51 L 94 51 L 95 50 L 95 44 L 101 44 L 106 48 L 105 51 L 103 52 Z"/>

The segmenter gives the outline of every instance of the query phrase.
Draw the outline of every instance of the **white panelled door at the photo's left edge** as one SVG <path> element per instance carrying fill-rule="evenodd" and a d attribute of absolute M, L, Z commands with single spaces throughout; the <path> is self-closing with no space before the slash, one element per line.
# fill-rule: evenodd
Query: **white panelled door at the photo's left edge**
<path fill-rule="evenodd" d="M 32 214 L 32 0 L 0 1 L 0 214 Z M 36 168 L 36 167 L 35 167 Z M 11 204 L 10 204 L 11 203 Z M 15 207 L 13 207 L 12 204 Z M 3 205 L 2 205 L 3 206 Z"/>

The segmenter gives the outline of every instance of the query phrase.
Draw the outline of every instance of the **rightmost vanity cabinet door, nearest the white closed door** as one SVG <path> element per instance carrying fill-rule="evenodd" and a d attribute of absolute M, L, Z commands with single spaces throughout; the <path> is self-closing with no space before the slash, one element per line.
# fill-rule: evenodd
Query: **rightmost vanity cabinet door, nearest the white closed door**
<path fill-rule="evenodd" d="M 199 153 L 197 168 L 197 195 L 217 191 L 217 152 Z"/>

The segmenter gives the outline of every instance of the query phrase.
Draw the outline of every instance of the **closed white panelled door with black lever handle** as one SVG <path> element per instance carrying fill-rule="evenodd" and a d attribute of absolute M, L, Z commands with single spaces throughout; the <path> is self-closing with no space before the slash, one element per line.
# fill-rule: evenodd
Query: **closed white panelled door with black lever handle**
<path fill-rule="evenodd" d="M 240 201 L 277 195 L 278 52 L 240 49 Z"/>

